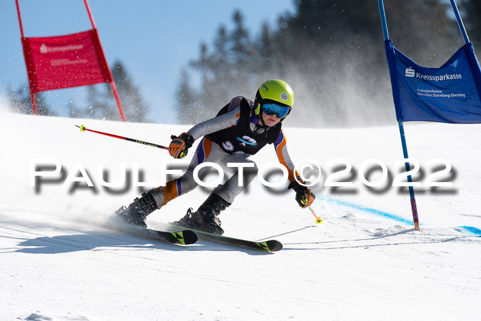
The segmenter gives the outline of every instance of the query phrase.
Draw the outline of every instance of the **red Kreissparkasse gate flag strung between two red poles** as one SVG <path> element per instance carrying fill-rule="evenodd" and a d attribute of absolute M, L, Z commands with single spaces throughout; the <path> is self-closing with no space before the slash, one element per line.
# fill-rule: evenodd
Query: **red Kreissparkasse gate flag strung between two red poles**
<path fill-rule="evenodd" d="M 95 29 L 22 43 L 33 93 L 112 81 Z"/>

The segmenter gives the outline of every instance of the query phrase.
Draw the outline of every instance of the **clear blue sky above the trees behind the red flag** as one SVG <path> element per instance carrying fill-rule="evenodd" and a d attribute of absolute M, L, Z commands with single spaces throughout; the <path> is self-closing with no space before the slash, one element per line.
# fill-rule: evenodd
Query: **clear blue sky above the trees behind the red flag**
<path fill-rule="evenodd" d="M 25 36 L 56 36 L 91 29 L 83 0 L 19 0 Z M 240 9 L 251 35 L 262 21 L 275 25 L 293 12 L 293 0 L 89 0 L 109 65 L 121 60 L 155 114 L 155 122 L 175 122 L 174 92 L 181 67 L 197 58 L 201 41 L 212 43 L 221 23 L 232 27 Z M 0 1 L 0 96 L 27 85 L 14 0 Z M 79 100 L 85 89 L 47 92 L 50 104 Z M 77 101 L 76 101 L 77 102 Z M 81 101 L 79 104 L 82 103 Z M 160 116 L 162 115 L 162 116 Z"/>

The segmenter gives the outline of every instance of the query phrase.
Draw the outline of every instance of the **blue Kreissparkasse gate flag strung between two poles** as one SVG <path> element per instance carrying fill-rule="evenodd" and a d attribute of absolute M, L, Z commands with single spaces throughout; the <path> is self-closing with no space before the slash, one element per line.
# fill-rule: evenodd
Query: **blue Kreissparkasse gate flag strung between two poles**
<path fill-rule="evenodd" d="M 439 68 L 421 67 L 385 41 L 398 120 L 481 123 L 481 68 L 472 43 Z"/>

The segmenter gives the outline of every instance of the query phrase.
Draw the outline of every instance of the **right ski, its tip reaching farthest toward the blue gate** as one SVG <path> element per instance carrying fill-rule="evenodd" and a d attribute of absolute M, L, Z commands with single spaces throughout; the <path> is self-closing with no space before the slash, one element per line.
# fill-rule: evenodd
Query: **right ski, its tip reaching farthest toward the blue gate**
<path fill-rule="evenodd" d="M 213 241 L 213 242 L 218 242 L 226 245 L 234 245 L 234 246 L 244 247 L 251 250 L 259 250 L 262 252 L 277 252 L 279 250 L 282 250 L 282 243 L 276 240 L 256 242 L 256 241 L 236 239 L 230 236 L 223 236 L 223 235 L 212 234 L 212 233 L 203 232 L 199 230 L 194 230 L 194 229 L 186 228 L 183 226 L 175 225 L 172 223 L 169 223 L 168 226 L 169 226 L 169 229 L 172 229 L 172 230 L 182 229 L 182 228 L 188 229 L 192 232 L 195 232 L 197 236 L 199 236 L 199 239 L 203 239 L 206 241 Z"/>

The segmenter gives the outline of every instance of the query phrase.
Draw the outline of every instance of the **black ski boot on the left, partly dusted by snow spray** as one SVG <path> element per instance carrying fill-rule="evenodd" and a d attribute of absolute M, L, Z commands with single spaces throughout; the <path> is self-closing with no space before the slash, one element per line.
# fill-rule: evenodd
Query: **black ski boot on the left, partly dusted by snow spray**
<path fill-rule="evenodd" d="M 139 226 L 140 228 L 146 228 L 147 224 L 145 219 L 148 214 L 157 210 L 157 203 L 150 192 L 142 194 L 142 197 L 137 197 L 133 200 L 133 203 L 126 208 L 122 206 L 115 211 L 122 220 L 131 225 Z"/>

